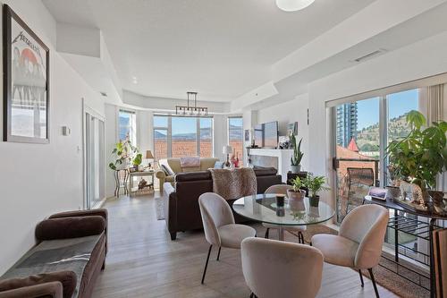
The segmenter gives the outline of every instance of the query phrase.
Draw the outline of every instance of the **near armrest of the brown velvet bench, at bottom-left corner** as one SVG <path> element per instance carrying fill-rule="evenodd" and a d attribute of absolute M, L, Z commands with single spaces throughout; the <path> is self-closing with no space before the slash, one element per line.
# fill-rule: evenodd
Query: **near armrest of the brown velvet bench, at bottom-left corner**
<path fill-rule="evenodd" d="M 70 298 L 76 288 L 73 271 L 57 271 L 0 281 L 0 298 L 51 296 Z M 60 291 L 60 292 L 58 292 Z"/>

